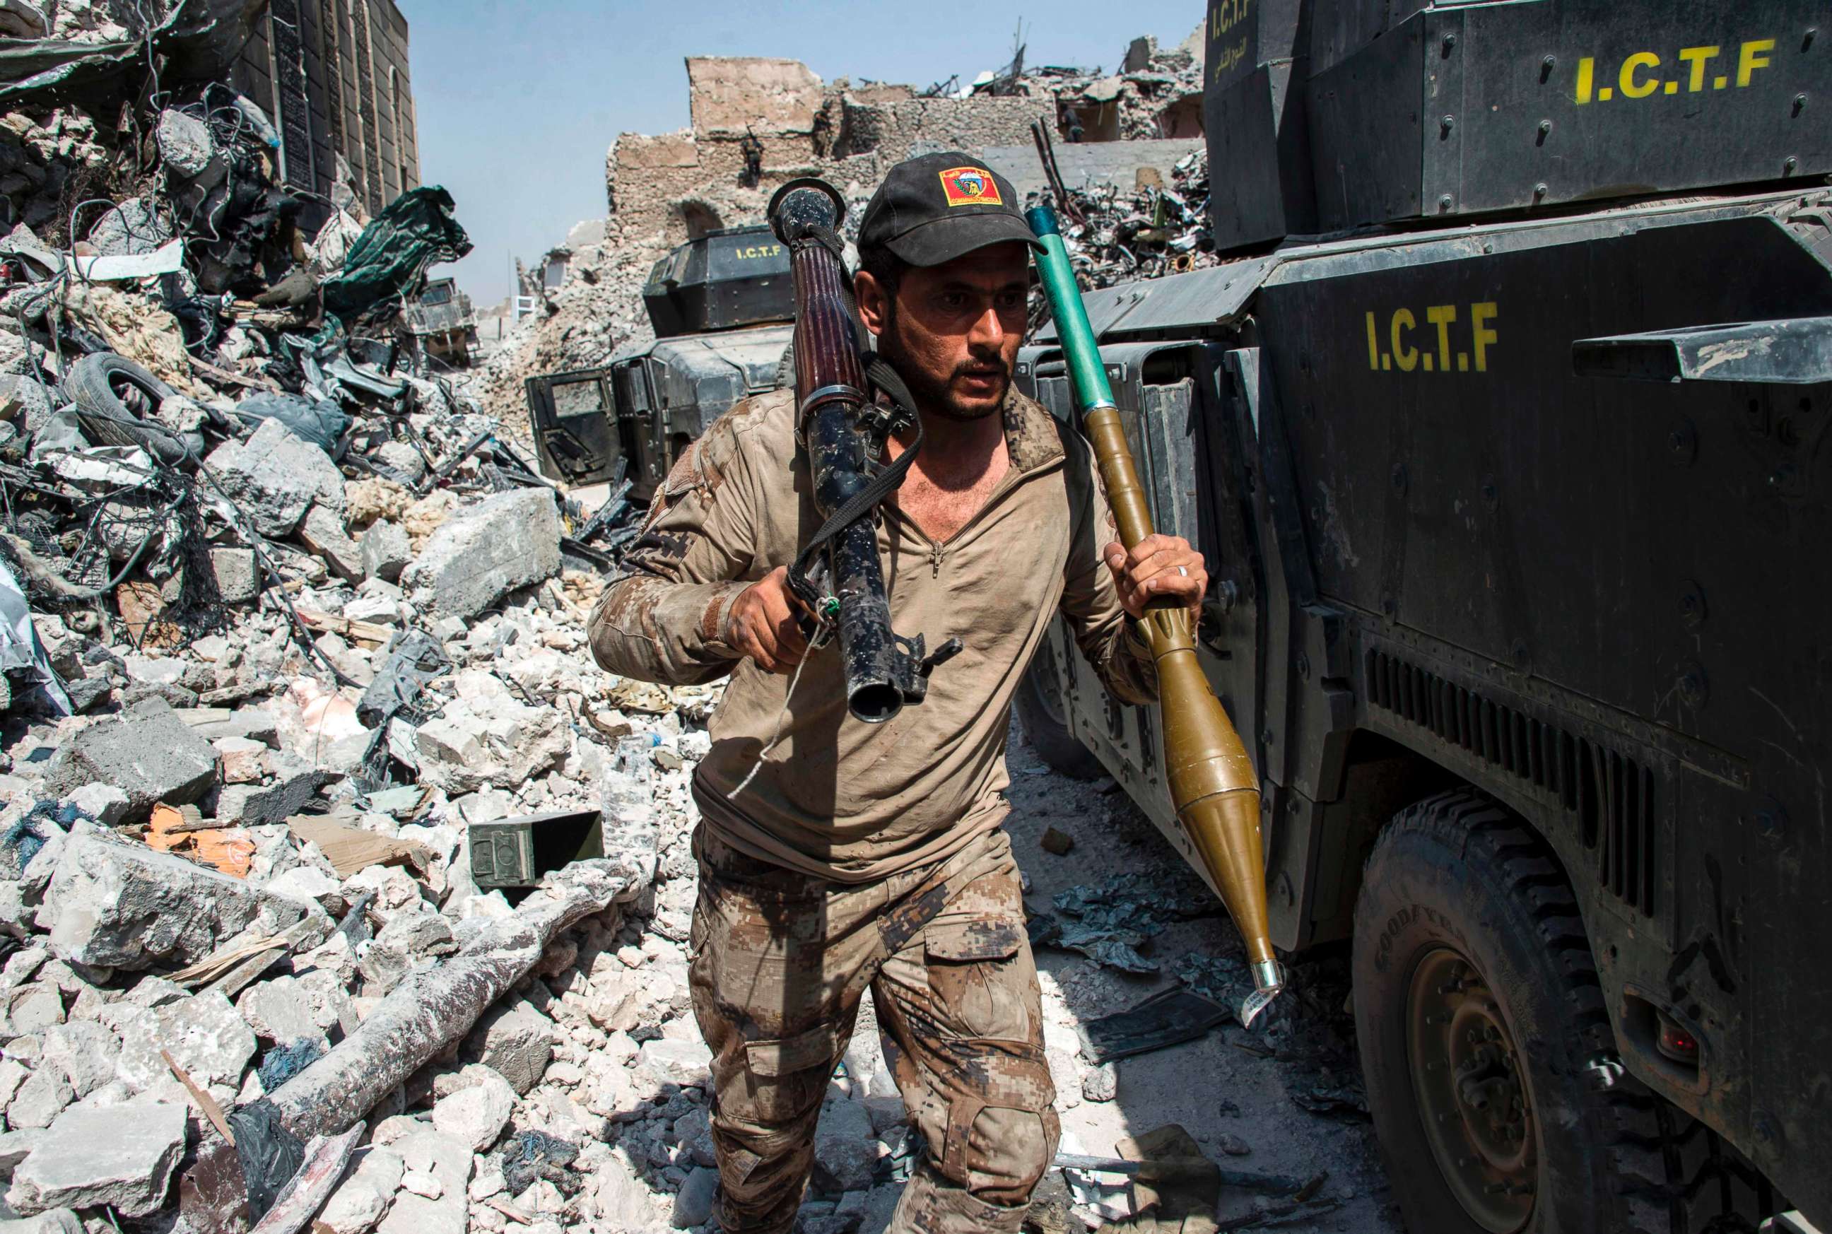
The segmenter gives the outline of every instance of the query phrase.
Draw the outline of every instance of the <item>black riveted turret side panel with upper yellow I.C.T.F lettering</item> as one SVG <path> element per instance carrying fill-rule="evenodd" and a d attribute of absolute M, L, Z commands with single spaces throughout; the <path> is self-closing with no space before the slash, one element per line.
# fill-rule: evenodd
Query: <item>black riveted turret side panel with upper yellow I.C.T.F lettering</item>
<path fill-rule="evenodd" d="M 1823 7 L 1438 0 L 1381 31 L 1379 0 L 1317 0 L 1317 222 L 1337 231 L 1832 170 Z M 1354 37 L 1367 40 L 1343 46 Z"/>

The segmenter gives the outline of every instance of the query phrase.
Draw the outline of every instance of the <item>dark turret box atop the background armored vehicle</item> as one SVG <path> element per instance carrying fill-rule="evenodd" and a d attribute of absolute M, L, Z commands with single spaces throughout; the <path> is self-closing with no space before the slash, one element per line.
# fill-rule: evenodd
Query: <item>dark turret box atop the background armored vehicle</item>
<path fill-rule="evenodd" d="M 790 320 L 790 251 L 768 227 L 707 233 L 656 262 L 643 306 L 658 339 Z"/>

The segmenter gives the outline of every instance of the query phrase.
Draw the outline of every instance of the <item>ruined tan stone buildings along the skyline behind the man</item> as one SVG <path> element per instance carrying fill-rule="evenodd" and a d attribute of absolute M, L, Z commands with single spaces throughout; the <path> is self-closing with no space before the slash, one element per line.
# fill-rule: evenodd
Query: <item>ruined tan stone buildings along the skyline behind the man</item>
<path fill-rule="evenodd" d="M 1163 185 L 1178 159 L 1202 157 L 1200 46 L 1200 29 L 1163 51 L 1156 40 L 1134 40 L 1114 75 L 1024 70 L 1020 53 L 1017 73 L 954 90 L 823 82 L 799 60 L 689 57 L 691 126 L 621 134 L 610 145 L 610 212 L 601 225 L 575 229 L 561 260 L 550 254 L 539 276 L 524 278 L 535 311 L 491 357 L 480 386 L 485 410 L 520 432 L 528 377 L 601 366 L 650 341 L 641 308 L 650 267 L 685 240 L 764 222 L 769 194 L 797 176 L 839 187 L 854 200 L 854 222 L 889 167 L 929 150 L 975 152 L 1020 189 L 1039 190 L 1046 185 L 1031 126 L 1042 123 L 1063 143 L 1059 157 L 1086 168 L 1074 187 L 1101 185 L 1130 200 L 1138 167 Z M 1178 223 L 1183 212 L 1174 214 Z M 583 231 L 590 234 L 577 240 Z M 1130 273 L 1136 267 L 1118 276 Z"/>

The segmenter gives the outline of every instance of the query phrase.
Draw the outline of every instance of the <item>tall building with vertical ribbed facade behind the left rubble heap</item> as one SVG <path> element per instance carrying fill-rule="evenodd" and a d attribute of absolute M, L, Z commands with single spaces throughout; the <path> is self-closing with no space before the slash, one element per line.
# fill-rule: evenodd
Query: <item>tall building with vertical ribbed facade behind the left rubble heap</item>
<path fill-rule="evenodd" d="M 420 185 L 409 31 L 394 0 L 267 0 L 231 81 L 277 119 L 280 178 L 293 189 L 330 198 L 339 157 L 370 214 Z"/>

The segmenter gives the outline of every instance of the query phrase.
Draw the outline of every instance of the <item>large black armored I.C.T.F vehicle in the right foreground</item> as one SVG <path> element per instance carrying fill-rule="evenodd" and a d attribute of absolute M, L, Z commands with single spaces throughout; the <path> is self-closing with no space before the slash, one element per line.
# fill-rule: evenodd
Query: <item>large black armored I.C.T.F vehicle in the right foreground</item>
<path fill-rule="evenodd" d="M 1085 297 L 1418 1234 L 1832 1229 L 1827 18 L 1215 0 L 1229 260 Z M 1191 855 L 1063 630 L 1020 723 Z"/>

